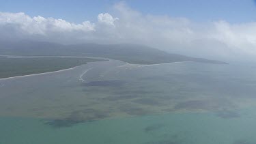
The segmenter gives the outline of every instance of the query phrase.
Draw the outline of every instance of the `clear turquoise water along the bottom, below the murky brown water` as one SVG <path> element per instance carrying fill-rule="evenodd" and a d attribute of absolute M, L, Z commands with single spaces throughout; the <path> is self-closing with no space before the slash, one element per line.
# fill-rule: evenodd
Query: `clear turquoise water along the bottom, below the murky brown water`
<path fill-rule="evenodd" d="M 246 110 L 248 111 L 248 110 Z M 40 119 L 1 118 L 0 143 L 256 143 L 255 115 L 223 119 L 214 113 L 167 113 L 103 119 L 52 128 Z"/>

